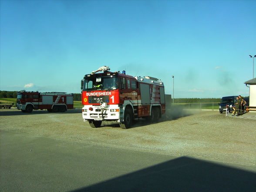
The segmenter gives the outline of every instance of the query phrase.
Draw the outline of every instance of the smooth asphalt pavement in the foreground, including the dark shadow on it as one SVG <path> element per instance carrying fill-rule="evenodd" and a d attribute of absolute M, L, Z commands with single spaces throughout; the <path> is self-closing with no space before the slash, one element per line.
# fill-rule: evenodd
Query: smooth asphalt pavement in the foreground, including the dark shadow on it
<path fill-rule="evenodd" d="M 255 192 L 232 164 L 0 131 L 1 192 Z"/>

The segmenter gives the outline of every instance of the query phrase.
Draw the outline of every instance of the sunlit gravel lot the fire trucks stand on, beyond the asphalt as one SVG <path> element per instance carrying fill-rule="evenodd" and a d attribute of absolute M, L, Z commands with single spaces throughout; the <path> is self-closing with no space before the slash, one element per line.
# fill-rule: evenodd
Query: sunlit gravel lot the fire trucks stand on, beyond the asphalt
<path fill-rule="evenodd" d="M 249 166 L 256 171 L 256 120 L 227 118 L 219 111 L 169 109 L 162 120 L 140 119 L 130 129 L 115 122 L 91 128 L 81 110 L 65 113 L 0 109 L 0 129 L 71 142 L 92 143 L 165 155 Z"/>

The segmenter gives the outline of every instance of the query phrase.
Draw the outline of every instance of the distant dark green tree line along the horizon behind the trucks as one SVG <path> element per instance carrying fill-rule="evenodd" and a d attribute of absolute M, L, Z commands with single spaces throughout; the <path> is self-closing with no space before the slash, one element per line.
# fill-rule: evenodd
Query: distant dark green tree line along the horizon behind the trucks
<path fill-rule="evenodd" d="M 0 91 L 0 98 L 17 98 L 17 91 Z M 74 101 L 81 101 L 81 93 L 73 94 Z M 172 102 L 170 95 L 166 100 Z M 221 98 L 174 98 L 174 103 L 219 103 Z"/>

